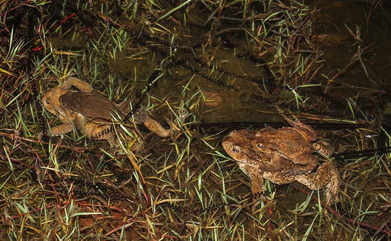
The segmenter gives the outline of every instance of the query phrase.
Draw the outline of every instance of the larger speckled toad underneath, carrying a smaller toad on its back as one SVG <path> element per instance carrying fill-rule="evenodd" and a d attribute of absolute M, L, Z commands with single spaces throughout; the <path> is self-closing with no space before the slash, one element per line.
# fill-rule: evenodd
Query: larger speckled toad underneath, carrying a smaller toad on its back
<path fill-rule="evenodd" d="M 331 162 L 322 163 L 316 171 L 309 174 L 290 172 L 301 168 L 286 158 L 280 158 L 281 168 L 278 171 L 264 171 L 272 161 L 270 156 L 260 152 L 251 144 L 254 138 L 253 130 L 234 130 L 223 138 L 222 146 L 239 168 L 251 179 L 251 191 L 254 197 L 263 193 L 263 178 L 276 184 L 285 184 L 299 181 L 309 189 L 316 190 L 326 186 L 326 201 L 338 201 L 338 192 L 341 178 L 336 166 Z"/>

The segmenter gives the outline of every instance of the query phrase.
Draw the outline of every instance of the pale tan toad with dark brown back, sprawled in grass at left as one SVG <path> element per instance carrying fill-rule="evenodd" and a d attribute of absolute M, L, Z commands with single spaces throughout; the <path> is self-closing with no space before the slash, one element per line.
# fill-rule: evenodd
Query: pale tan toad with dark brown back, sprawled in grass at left
<path fill-rule="evenodd" d="M 72 86 L 80 91 L 71 90 Z M 64 135 L 76 129 L 87 138 L 108 141 L 110 147 L 115 146 L 113 120 L 124 120 L 131 110 L 129 101 L 116 104 L 98 93 L 93 93 L 90 84 L 74 77 L 67 78 L 59 87 L 44 91 L 42 102 L 45 109 L 55 114 L 63 123 L 50 128 L 49 136 Z M 143 122 L 160 137 L 170 135 L 170 130 L 164 129 L 145 113 L 138 112 L 133 117 L 135 122 Z M 39 136 L 41 138 L 43 132 Z"/>

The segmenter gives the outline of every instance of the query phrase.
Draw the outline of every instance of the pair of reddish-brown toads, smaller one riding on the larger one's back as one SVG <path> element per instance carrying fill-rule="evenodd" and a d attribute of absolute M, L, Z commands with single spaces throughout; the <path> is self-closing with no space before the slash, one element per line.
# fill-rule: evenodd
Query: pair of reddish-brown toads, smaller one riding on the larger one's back
<path fill-rule="evenodd" d="M 263 198 L 264 178 L 277 184 L 299 181 L 312 190 L 326 186 L 326 202 L 338 201 L 338 169 L 329 161 L 317 167 L 318 159 L 312 154 L 330 156 L 334 148 L 318 140 L 312 127 L 281 115 L 293 127 L 234 130 L 222 141 L 224 150 L 250 177 L 255 199 Z"/>

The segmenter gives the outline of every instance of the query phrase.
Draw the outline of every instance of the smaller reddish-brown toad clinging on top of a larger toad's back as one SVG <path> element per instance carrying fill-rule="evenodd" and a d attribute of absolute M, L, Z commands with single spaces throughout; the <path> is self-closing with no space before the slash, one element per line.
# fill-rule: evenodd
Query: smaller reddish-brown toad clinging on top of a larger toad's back
<path fill-rule="evenodd" d="M 285 158 L 300 165 L 288 171 L 308 174 L 318 165 L 318 158 L 312 155 L 314 151 L 326 156 L 333 154 L 334 147 L 327 141 L 318 140 L 317 133 L 311 126 L 299 120 L 292 121 L 281 112 L 280 114 L 293 127 L 275 129 L 268 126 L 257 131 L 252 139 L 254 148 L 270 157 L 271 163 L 263 171 L 278 171 L 281 159 Z"/>

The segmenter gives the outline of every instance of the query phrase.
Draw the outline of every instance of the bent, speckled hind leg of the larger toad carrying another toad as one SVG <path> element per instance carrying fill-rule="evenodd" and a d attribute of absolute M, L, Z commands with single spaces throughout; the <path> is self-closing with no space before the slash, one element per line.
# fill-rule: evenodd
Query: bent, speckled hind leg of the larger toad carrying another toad
<path fill-rule="evenodd" d="M 339 201 L 338 192 L 341 185 L 341 177 L 337 167 L 331 162 L 322 163 L 316 172 L 308 175 L 300 175 L 296 181 L 303 183 L 311 190 L 317 190 L 326 186 L 326 203 Z"/>

